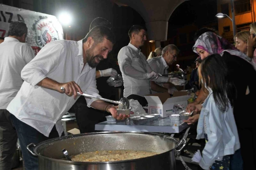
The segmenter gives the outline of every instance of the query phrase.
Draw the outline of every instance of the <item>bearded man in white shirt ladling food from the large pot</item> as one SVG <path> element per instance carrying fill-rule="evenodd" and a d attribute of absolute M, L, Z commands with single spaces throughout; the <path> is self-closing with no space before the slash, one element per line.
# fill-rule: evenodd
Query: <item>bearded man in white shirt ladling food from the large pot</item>
<path fill-rule="evenodd" d="M 24 67 L 21 76 L 25 81 L 7 110 L 18 132 L 26 170 L 38 169 L 37 158 L 26 146 L 62 135 L 61 118 L 75 103 L 77 92 L 100 97 L 95 67 L 107 58 L 114 43 L 111 30 L 97 26 L 78 42 L 58 40 L 46 44 Z M 117 117 L 116 107 L 109 103 L 87 97 L 86 101 L 88 107 L 108 111 L 117 119 L 125 118 Z"/>

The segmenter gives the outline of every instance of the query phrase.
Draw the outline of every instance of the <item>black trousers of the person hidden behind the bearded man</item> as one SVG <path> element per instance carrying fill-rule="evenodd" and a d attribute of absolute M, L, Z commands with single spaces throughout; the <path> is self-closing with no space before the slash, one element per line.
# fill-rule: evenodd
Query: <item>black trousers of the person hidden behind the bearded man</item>
<path fill-rule="evenodd" d="M 87 107 L 87 103 L 84 97 L 80 98 L 74 104 L 75 117 L 77 119 L 80 133 L 96 132 L 95 125 L 106 121 L 105 116 L 111 114 L 105 111 L 99 111 L 92 107 Z"/>

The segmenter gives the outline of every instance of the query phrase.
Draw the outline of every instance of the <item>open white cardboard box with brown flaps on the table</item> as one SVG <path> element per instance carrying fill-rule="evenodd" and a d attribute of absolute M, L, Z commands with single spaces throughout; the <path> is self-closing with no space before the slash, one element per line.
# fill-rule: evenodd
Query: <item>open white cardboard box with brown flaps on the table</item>
<path fill-rule="evenodd" d="M 173 105 L 179 104 L 186 108 L 190 97 L 187 92 L 174 92 L 173 97 L 167 92 L 146 95 L 148 114 L 160 114 L 161 118 L 169 117 L 171 114 L 178 114 L 178 109 L 173 108 Z"/>

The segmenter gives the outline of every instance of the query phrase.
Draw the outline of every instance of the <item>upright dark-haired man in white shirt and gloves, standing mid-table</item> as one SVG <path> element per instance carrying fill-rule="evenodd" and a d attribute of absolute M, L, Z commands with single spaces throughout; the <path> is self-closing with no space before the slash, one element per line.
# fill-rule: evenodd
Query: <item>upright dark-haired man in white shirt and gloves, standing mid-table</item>
<path fill-rule="evenodd" d="M 128 35 L 130 43 L 123 47 L 118 53 L 118 64 L 123 76 L 124 93 L 128 99 L 138 100 L 145 106 L 147 101 L 145 95 L 151 94 L 150 80 L 156 82 L 172 82 L 169 77 L 158 77 L 148 64 L 146 57 L 140 50 L 146 39 L 146 28 L 133 25 Z"/>

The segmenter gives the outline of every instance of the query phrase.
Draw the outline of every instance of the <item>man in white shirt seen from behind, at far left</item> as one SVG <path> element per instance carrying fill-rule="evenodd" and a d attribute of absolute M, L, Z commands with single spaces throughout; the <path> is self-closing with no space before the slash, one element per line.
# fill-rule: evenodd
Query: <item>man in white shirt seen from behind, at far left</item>
<path fill-rule="evenodd" d="M 25 43 L 27 33 L 25 23 L 12 22 L 8 37 L 0 44 L 0 170 L 11 170 L 17 143 L 17 133 L 6 108 L 22 86 L 23 67 L 35 56 Z"/>

